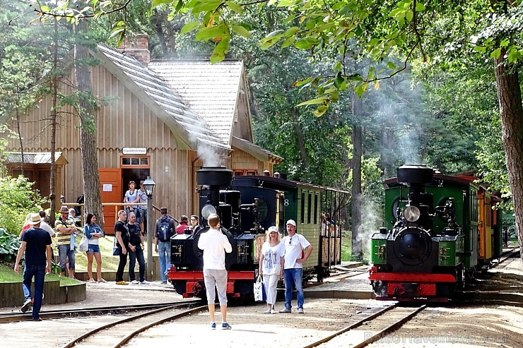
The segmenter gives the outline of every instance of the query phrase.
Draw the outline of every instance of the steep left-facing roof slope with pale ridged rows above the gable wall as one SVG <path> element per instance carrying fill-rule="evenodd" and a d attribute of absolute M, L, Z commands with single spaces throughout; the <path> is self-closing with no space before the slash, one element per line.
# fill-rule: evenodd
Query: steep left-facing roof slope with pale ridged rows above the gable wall
<path fill-rule="evenodd" d="M 97 56 L 114 76 L 122 80 L 127 88 L 169 126 L 172 133 L 182 140 L 185 148 L 196 150 L 201 142 L 213 148 L 230 150 L 228 142 L 211 130 L 206 121 L 189 108 L 175 90 L 133 56 L 122 54 L 105 44 L 98 45 Z"/>

